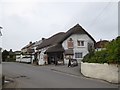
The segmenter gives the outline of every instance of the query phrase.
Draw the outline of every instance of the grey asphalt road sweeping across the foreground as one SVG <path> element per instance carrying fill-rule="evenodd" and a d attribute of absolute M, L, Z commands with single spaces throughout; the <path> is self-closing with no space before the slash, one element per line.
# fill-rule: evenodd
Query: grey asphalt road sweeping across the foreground
<path fill-rule="evenodd" d="M 55 72 L 48 66 L 6 62 L 2 69 L 14 79 L 15 88 L 117 88 L 108 82 Z"/>

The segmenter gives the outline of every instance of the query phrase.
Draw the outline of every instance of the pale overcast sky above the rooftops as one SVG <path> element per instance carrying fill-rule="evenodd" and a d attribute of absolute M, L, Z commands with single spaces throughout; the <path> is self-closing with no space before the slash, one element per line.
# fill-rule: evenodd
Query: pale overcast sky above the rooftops
<path fill-rule="evenodd" d="M 0 45 L 21 50 L 30 41 L 49 38 L 81 25 L 96 41 L 118 36 L 117 0 L 1 0 Z"/>

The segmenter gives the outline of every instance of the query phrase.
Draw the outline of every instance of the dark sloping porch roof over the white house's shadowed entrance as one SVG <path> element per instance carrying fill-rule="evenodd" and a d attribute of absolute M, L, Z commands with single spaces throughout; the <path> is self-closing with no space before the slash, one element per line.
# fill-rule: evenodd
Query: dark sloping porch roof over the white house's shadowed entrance
<path fill-rule="evenodd" d="M 61 44 L 57 44 L 53 47 L 48 48 L 45 53 L 52 53 L 52 52 L 64 52 L 64 48 L 62 47 Z"/>

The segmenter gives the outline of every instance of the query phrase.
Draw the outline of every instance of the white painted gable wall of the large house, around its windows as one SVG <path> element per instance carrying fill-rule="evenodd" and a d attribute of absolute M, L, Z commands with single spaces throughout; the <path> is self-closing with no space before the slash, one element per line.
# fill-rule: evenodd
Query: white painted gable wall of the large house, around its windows
<path fill-rule="evenodd" d="M 75 58 L 75 52 L 82 52 L 83 53 L 83 57 L 88 53 L 88 43 L 93 43 L 93 40 L 86 34 L 73 34 L 71 35 L 70 37 L 68 37 L 63 43 L 62 43 L 62 46 L 64 47 L 64 49 L 68 49 L 67 47 L 67 41 L 72 38 L 73 42 L 74 42 L 74 48 L 73 48 L 73 51 L 74 51 L 74 56 L 73 56 L 73 59 L 76 59 Z M 78 47 L 77 45 L 77 40 L 83 40 L 85 43 L 84 43 L 84 46 L 82 47 Z M 78 60 L 78 63 L 81 62 L 83 58 L 77 58 Z M 66 59 L 64 59 L 64 62 L 65 64 L 68 63 L 68 60 L 66 61 Z"/>

